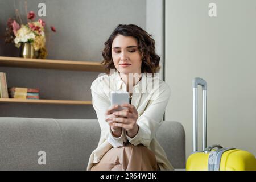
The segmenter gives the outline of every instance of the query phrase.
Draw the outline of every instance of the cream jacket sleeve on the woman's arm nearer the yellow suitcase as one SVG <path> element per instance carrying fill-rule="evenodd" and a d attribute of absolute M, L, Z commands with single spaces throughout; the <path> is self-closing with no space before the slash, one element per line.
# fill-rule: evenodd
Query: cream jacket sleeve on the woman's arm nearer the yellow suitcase
<path fill-rule="evenodd" d="M 163 114 L 170 95 L 171 89 L 166 83 L 159 88 L 159 92 L 152 94 L 152 99 L 149 100 L 146 110 L 137 119 L 137 125 L 139 126 L 137 135 L 131 138 L 126 134 L 126 138 L 131 144 L 150 146 L 151 140 L 155 137 L 156 131 L 163 122 Z"/>

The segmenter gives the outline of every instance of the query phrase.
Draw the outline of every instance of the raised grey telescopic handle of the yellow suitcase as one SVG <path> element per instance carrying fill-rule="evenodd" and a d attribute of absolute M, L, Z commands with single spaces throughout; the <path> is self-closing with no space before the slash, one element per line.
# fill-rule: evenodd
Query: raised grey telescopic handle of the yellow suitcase
<path fill-rule="evenodd" d="M 193 152 L 197 151 L 197 86 L 203 90 L 203 150 L 207 147 L 207 82 L 202 78 L 193 79 Z M 202 150 L 202 151 L 203 151 Z"/>

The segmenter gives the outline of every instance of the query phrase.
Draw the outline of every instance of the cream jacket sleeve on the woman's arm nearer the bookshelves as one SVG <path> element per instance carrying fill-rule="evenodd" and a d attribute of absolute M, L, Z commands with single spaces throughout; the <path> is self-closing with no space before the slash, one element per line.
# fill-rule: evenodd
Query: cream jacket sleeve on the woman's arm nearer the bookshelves
<path fill-rule="evenodd" d="M 114 137 L 109 124 L 105 121 L 105 113 L 110 107 L 110 101 L 104 92 L 102 84 L 94 81 L 90 89 L 92 92 L 93 108 L 96 111 L 98 122 L 101 127 L 101 136 L 108 140 L 113 147 L 124 146 L 124 143 L 127 142 L 125 130 L 122 129 L 122 135 L 120 137 Z"/>

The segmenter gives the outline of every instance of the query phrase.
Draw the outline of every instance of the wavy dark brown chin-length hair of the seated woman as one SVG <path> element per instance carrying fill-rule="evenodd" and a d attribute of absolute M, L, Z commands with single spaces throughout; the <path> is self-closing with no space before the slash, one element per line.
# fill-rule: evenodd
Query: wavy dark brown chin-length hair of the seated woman
<path fill-rule="evenodd" d="M 141 72 L 156 73 L 156 69 L 159 67 L 160 57 L 155 53 L 155 40 L 152 39 L 152 35 L 135 24 L 119 24 L 112 32 L 109 39 L 104 43 L 105 48 L 102 51 L 104 60 L 101 64 L 108 73 L 110 73 L 110 69 L 115 69 L 112 59 L 112 43 L 117 35 L 133 36 L 137 39 L 138 49 L 142 53 Z"/>

